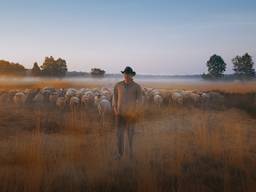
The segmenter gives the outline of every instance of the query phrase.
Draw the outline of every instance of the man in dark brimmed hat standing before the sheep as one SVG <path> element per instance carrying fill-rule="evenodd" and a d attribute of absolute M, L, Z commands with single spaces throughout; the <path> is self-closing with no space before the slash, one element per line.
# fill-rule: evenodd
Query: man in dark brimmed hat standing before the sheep
<path fill-rule="evenodd" d="M 123 156 L 125 129 L 128 131 L 129 155 L 130 158 L 132 158 L 134 126 L 142 104 L 141 86 L 133 81 L 136 72 L 129 66 L 121 72 L 124 75 L 124 80 L 115 85 L 112 102 L 117 127 L 117 159 L 120 159 Z"/>

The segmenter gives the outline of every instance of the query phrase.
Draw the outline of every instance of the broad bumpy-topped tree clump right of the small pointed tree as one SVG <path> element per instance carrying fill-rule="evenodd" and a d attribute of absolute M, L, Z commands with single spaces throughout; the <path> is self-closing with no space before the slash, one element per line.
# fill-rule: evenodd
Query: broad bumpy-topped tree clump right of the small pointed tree
<path fill-rule="evenodd" d="M 48 77 L 64 77 L 67 72 L 67 64 L 64 59 L 55 60 L 52 56 L 45 57 L 41 66 L 42 74 Z"/>

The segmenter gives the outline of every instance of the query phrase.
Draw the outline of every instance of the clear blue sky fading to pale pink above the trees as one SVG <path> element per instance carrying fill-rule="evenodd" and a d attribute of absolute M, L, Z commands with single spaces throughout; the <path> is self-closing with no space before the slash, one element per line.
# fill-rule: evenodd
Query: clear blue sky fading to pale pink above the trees
<path fill-rule="evenodd" d="M 256 62 L 255 0 L 0 0 L 0 59 L 32 68 L 45 56 L 69 71 L 189 75 L 213 54 Z"/>

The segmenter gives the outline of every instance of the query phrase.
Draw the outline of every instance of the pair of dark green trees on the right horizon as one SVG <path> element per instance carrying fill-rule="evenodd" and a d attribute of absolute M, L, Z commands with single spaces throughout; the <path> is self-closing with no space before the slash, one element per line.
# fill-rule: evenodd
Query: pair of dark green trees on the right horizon
<path fill-rule="evenodd" d="M 248 53 L 242 56 L 236 56 L 232 59 L 233 63 L 233 78 L 239 80 L 250 80 L 255 78 L 254 62 Z M 204 79 L 222 79 L 224 77 L 224 72 L 226 71 L 227 64 L 223 58 L 219 55 L 212 55 L 206 63 L 208 68 L 207 74 L 202 74 Z"/>

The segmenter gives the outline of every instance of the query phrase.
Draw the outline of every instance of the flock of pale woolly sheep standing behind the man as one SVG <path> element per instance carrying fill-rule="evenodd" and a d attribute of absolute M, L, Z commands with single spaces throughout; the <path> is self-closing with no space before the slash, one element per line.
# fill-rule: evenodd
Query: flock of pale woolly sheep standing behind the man
<path fill-rule="evenodd" d="M 67 88 L 25 89 L 0 91 L 1 103 L 13 103 L 16 106 L 32 105 L 37 107 L 52 106 L 59 110 L 95 108 L 99 114 L 112 111 L 113 89 Z M 143 105 L 156 107 L 171 105 L 205 106 L 210 103 L 223 104 L 224 95 L 219 92 L 200 92 L 196 90 L 159 90 L 143 88 Z"/>

